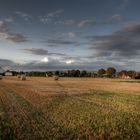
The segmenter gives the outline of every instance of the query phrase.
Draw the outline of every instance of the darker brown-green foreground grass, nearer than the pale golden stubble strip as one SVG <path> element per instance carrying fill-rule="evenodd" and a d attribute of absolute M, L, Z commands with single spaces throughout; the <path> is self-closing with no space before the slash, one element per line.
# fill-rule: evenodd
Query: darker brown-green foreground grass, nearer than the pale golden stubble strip
<path fill-rule="evenodd" d="M 0 84 L 2 140 L 140 137 L 139 94 L 90 90 L 82 94 L 42 96 L 25 87 Z"/>

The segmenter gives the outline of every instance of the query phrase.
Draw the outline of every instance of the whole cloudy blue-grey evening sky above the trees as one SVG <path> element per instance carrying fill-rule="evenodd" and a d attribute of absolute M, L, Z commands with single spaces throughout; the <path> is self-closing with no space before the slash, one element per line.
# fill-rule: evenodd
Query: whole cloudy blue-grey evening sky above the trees
<path fill-rule="evenodd" d="M 0 66 L 140 70 L 139 0 L 0 0 Z"/>

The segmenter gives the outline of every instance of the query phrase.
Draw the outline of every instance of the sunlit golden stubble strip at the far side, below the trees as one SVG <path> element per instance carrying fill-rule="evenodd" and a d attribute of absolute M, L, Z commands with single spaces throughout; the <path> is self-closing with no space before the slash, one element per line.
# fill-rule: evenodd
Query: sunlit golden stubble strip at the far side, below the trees
<path fill-rule="evenodd" d="M 57 94 L 66 91 L 72 93 L 83 93 L 88 91 L 109 91 L 109 92 L 123 92 L 123 93 L 140 93 L 140 83 L 134 80 L 123 79 L 106 79 L 106 78 L 61 78 L 60 81 L 54 81 L 53 78 L 27 78 L 23 83 L 16 78 L 6 78 L 6 83 L 13 83 L 20 87 L 35 89 L 43 95 Z"/>

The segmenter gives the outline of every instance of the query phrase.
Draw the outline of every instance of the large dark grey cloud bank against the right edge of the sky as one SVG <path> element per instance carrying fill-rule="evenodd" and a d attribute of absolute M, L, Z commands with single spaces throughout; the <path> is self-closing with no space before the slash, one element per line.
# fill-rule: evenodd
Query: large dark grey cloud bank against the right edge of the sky
<path fill-rule="evenodd" d="M 94 36 L 97 56 L 136 57 L 140 54 L 140 22 L 129 24 L 122 30 L 107 36 Z"/>

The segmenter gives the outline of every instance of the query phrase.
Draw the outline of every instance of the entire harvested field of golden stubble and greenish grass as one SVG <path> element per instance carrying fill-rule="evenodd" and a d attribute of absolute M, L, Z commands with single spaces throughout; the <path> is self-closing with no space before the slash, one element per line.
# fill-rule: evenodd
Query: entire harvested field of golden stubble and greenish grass
<path fill-rule="evenodd" d="M 140 82 L 5 77 L 0 140 L 138 140 Z"/>

